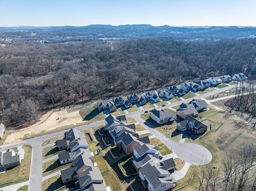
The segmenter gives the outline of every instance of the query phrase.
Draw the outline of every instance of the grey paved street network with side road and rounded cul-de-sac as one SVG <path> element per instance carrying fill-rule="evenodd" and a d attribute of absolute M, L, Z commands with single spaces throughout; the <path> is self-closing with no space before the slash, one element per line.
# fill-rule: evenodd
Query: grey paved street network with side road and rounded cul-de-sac
<path fill-rule="evenodd" d="M 234 87 L 234 85 L 224 87 L 222 89 L 215 90 L 215 91 L 212 91 L 209 93 L 205 93 L 203 95 L 199 95 L 194 98 L 200 99 L 200 98 L 204 98 L 204 97 L 207 97 L 210 95 L 218 94 L 222 91 L 231 89 L 232 87 Z M 164 109 L 164 108 L 177 106 L 177 105 L 180 105 L 182 102 L 185 102 L 185 103 L 190 102 L 192 99 L 193 98 L 190 98 L 190 99 L 187 99 L 184 101 L 182 100 L 182 101 L 175 102 L 172 104 L 166 104 L 166 106 L 158 107 L 156 109 L 160 110 L 160 109 Z M 146 109 L 146 110 L 149 111 L 151 109 Z M 140 118 L 140 114 L 142 114 L 142 111 L 132 112 L 132 113 L 126 114 L 126 117 L 135 118 L 140 124 L 142 124 L 142 126 L 144 126 L 154 136 L 159 138 L 164 144 L 166 144 L 166 146 L 171 148 L 173 150 L 173 152 L 178 155 L 179 158 L 183 159 L 184 161 L 186 161 L 188 163 L 192 163 L 192 164 L 202 164 L 202 163 L 211 161 L 212 155 L 206 148 L 204 148 L 200 145 L 197 145 L 197 144 L 178 143 L 178 142 L 174 142 L 174 141 L 166 138 L 160 132 L 158 132 L 156 129 L 151 128 L 149 124 L 148 125 L 145 124 L 144 120 L 142 120 L 142 118 Z M 95 126 L 99 126 L 99 125 L 103 125 L 103 124 L 105 124 L 104 120 L 94 122 L 91 124 L 87 124 L 87 125 L 83 125 L 83 126 L 77 127 L 76 129 L 84 130 L 84 129 L 93 128 Z M 40 136 L 40 137 L 36 137 L 36 138 L 31 138 L 28 140 L 23 140 L 23 141 L 17 142 L 17 143 L 6 144 L 6 145 L 2 146 L 2 148 L 10 148 L 10 147 L 20 146 L 23 144 L 32 145 L 33 150 L 32 150 L 32 162 L 31 162 L 29 189 L 28 189 L 29 191 L 42 190 L 42 143 L 44 142 L 44 140 L 47 140 L 49 138 L 61 136 L 64 134 L 64 132 L 66 132 L 66 131 L 60 131 L 60 132 L 56 132 L 56 133 L 52 133 L 52 134 L 48 134 L 48 135 L 44 135 L 44 136 Z M 2 188 L 2 189 L 4 189 L 4 188 Z"/>

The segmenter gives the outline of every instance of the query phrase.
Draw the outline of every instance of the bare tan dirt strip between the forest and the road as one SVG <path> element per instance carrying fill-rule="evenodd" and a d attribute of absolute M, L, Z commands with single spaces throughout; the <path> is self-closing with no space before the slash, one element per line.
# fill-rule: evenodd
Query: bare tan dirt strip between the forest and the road
<path fill-rule="evenodd" d="M 58 119 L 59 118 L 59 119 Z M 58 120 L 57 120 L 58 119 Z M 81 123 L 83 118 L 79 111 L 67 112 L 67 110 L 50 111 L 44 114 L 36 124 L 16 131 L 9 131 L 4 144 L 20 140 L 25 134 L 37 134 L 43 130 L 53 130 L 58 127 Z"/>

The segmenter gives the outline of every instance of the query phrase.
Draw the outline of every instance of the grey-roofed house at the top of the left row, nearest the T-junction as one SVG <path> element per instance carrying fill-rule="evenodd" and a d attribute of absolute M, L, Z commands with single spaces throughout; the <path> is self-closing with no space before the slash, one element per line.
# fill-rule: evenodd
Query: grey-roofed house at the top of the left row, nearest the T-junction
<path fill-rule="evenodd" d="M 70 152 L 74 152 L 78 148 L 88 148 L 84 133 L 74 128 L 65 132 L 64 139 L 57 140 L 56 143 L 59 151 L 69 148 Z"/>

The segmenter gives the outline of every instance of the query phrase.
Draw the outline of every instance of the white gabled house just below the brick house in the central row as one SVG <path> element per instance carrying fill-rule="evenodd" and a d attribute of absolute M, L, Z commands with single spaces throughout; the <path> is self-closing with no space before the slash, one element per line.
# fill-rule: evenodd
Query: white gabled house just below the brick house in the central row
<path fill-rule="evenodd" d="M 160 154 L 158 148 L 151 144 L 138 143 L 133 148 L 133 156 L 137 159 L 145 154 Z"/>

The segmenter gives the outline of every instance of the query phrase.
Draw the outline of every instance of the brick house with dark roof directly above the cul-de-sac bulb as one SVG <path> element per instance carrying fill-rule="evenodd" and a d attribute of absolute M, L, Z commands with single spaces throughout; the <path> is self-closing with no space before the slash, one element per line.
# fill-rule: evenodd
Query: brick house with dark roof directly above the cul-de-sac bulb
<path fill-rule="evenodd" d="M 188 116 L 177 124 L 178 131 L 191 130 L 194 134 L 201 134 L 207 131 L 208 126 L 192 116 Z"/>

